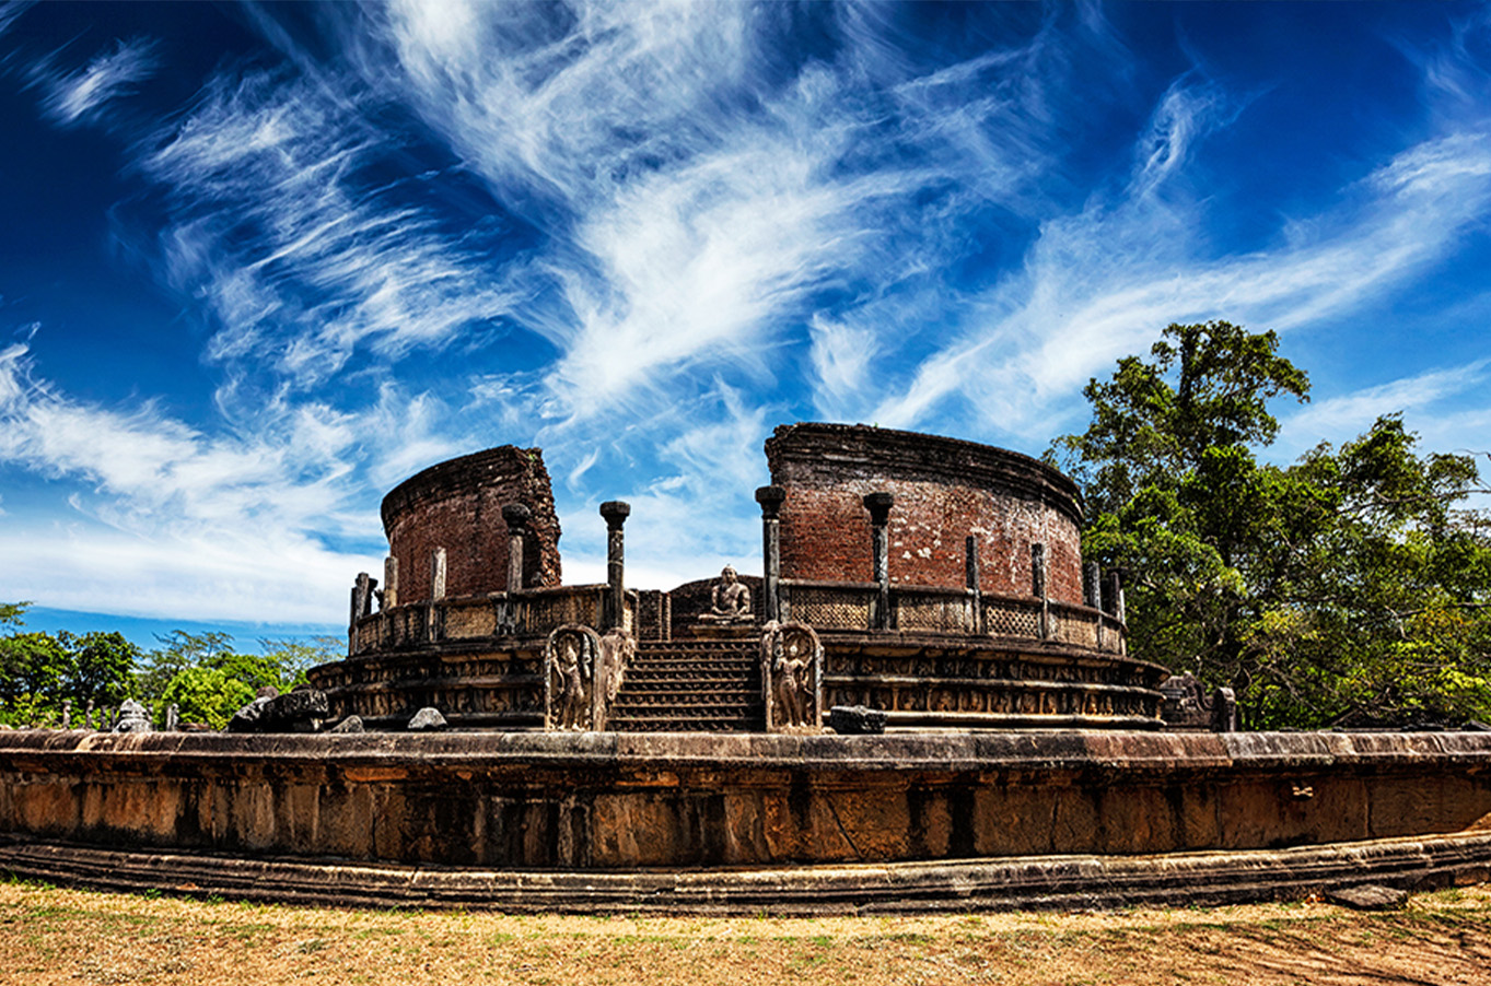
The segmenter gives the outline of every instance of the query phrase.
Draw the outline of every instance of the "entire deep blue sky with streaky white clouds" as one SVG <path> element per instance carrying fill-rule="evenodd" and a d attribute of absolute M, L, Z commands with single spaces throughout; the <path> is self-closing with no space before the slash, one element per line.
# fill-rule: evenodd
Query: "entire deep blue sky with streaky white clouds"
<path fill-rule="evenodd" d="M 1491 448 L 1491 7 L 0 6 L 0 600 L 340 632 L 382 494 L 540 445 L 565 581 L 759 569 L 762 441 L 1039 454 L 1169 322 L 1270 454 Z"/>

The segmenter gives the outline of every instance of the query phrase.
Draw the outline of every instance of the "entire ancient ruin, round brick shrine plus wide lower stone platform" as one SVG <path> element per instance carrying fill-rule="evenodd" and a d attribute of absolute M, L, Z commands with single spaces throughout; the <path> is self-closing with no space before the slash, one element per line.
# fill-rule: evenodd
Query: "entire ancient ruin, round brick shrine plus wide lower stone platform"
<path fill-rule="evenodd" d="M 538 450 L 420 472 L 310 688 L 230 733 L 137 731 L 133 703 L 115 733 L 0 733 L 0 871 L 620 913 L 1491 877 L 1491 734 L 1236 731 L 1226 690 L 1129 657 L 1059 472 L 842 424 L 778 427 L 766 462 L 760 573 L 671 590 L 626 585 L 619 500 L 607 581 L 562 582 Z"/>

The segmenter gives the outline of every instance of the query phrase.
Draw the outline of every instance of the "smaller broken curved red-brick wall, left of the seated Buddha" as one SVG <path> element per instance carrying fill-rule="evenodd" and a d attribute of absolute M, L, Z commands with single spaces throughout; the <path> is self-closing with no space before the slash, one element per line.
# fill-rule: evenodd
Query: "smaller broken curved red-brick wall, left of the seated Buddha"
<path fill-rule="evenodd" d="M 502 445 L 450 459 L 383 497 L 383 530 L 398 559 L 398 602 L 429 600 L 429 556 L 446 550 L 446 596 L 507 588 L 505 503 L 532 511 L 523 585 L 559 585 L 559 518 L 538 448 Z"/>

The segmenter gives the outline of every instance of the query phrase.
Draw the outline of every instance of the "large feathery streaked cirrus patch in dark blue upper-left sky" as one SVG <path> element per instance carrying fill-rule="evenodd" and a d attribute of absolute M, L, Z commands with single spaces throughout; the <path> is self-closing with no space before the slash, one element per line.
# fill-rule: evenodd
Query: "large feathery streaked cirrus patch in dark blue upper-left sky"
<path fill-rule="evenodd" d="M 221 74 L 142 156 L 171 213 L 166 277 L 213 316 L 209 359 L 310 387 L 356 352 L 491 329 L 522 298 L 419 201 L 422 177 L 373 177 L 394 150 L 376 112 L 321 80 Z"/>

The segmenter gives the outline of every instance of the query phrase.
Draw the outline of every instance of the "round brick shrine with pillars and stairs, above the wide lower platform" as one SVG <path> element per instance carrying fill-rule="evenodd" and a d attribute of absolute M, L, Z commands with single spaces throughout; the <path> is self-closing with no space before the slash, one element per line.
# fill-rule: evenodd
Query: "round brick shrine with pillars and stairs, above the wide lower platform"
<path fill-rule="evenodd" d="M 561 582 L 537 448 L 407 480 L 383 502 L 382 588 L 352 588 L 347 658 L 310 672 L 328 722 L 400 730 L 434 707 L 453 730 L 504 731 L 1164 725 L 1166 672 L 1127 655 L 1123 587 L 1081 560 L 1071 480 L 842 424 L 778 427 L 766 460 L 762 575 L 672 590 L 626 585 L 616 500 L 607 582 Z M 836 727 L 835 707 L 859 713 Z"/>

